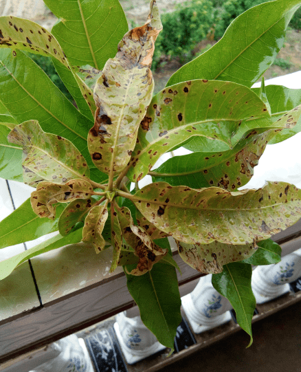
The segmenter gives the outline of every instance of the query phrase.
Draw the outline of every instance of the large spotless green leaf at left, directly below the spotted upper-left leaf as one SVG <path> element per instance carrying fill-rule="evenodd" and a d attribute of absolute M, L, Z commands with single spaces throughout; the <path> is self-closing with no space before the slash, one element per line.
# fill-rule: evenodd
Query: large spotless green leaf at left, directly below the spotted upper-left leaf
<path fill-rule="evenodd" d="M 93 122 L 80 114 L 21 51 L 0 50 L 0 100 L 17 122 L 35 118 L 43 131 L 71 141 L 93 166 L 87 150 L 87 135 Z"/>

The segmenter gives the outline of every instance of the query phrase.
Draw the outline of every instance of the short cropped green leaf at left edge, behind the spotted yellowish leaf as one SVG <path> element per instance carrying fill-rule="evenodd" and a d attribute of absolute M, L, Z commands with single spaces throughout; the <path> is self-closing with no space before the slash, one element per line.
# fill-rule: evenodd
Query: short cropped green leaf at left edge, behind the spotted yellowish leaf
<path fill-rule="evenodd" d="M 0 177 L 23 182 L 22 147 L 8 142 L 9 133 L 10 129 L 0 122 Z"/>

